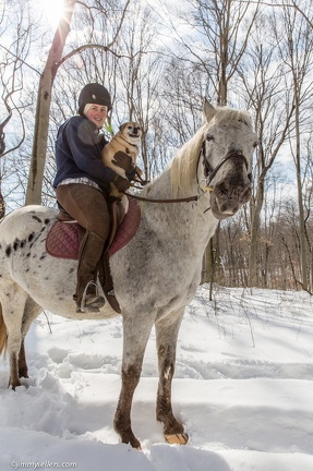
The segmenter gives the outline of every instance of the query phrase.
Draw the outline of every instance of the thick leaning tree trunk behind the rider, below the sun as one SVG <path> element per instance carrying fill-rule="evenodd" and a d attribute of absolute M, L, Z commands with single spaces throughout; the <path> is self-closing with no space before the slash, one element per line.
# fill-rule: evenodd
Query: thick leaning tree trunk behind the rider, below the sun
<path fill-rule="evenodd" d="M 49 112 L 53 80 L 62 57 L 76 0 L 64 0 L 64 10 L 44 72 L 39 80 L 32 160 L 26 192 L 26 205 L 41 204 L 41 190 L 48 142 Z M 51 8 L 53 5 L 51 4 Z"/>

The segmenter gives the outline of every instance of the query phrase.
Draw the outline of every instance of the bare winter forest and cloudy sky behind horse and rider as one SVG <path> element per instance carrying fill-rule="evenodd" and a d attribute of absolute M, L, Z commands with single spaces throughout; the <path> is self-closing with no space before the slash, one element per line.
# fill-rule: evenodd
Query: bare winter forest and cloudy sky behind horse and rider
<path fill-rule="evenodd" d="M 153 180 L 202 123 L 202 101 L 251 112 L 250 204 L 219 225 L 203 280 L 313 283 L 311 0 L 0 0 L 0 165 L 5 213 L 56 206 L 55 140 L 82 86 L 113 99 L 108 134 L 144 129 Z"/>

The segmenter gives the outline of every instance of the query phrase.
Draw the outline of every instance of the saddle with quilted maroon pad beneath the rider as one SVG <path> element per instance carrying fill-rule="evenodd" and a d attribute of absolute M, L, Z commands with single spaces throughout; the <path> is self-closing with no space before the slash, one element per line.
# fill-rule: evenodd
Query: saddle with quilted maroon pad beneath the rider
<path fill-rule="evenodd" d="M 119 201 L 110 202 L 108 207 L 111 216 L 111 228 L 98 264 L 98 278 L 110 306 L 120 314 L 121 310 L 115 295 L 109 258 L 134 237 L 140 226 L 141 210 L 137 202 L 132 198 L 129 198 L 128 213 L 124 213 Z M 60 208 L 58 219 L 47 235 L 46 250 L 53 257 L 79 259 L 80 242 L 84 233 L 85 229 L 73 220 L 63 208 Z"/>

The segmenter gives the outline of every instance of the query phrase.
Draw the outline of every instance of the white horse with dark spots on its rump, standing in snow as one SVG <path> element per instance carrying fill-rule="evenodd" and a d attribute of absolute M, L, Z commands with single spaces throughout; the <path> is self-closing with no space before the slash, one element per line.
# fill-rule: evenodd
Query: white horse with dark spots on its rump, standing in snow
<path fill-rule="evenodd" d="M 132 240 L 110 258 L 123 318 L 121 390 L 113 425 L 122 443 L 141 449 L 131 408 L 153 326 L 159 381 L 156 419 L 165 439 L 186 444 L 173 415 L 171 385 L 185 306 L 201 282 L 204 251 L 220 220 L 251 197 L 252 157 L 257 145 L 248 111 L 203 105 L 204 122 L 170 165 L 140 193 L 141 221 Z M 9 387 L 28 377 L 24 338 L 43 310 L 74 319 L 118 315 L 108 302 L 98 313 L 76 312 L 72 293 L 77 262 L 46 252 L 57 209 L 14 209 L 0 222 L 0 353 L 9 353 Z"/>

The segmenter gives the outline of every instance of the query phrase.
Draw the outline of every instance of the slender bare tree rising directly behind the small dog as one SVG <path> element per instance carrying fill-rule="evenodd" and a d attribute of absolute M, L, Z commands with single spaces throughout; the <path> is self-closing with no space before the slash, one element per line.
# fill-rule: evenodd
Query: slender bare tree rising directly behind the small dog
<path fill-rule="evenodd" d="M 140 1 L 132 2 L 131 15 L 118 39 L 127 57 L 117 64 L 117 76 L 123 94 L 117 100 L 119 118 L 135 120 L 143 128 L 141 142 L 141 166 L 145 179 L 160 171 L 160 155 L 156 141 L 159 130 L 157 111 L 162 86 L 164 63 L 157 46 L 156 17 L 153 11 Z M 160 134 L 161 135 L 161 134 Z"/>

